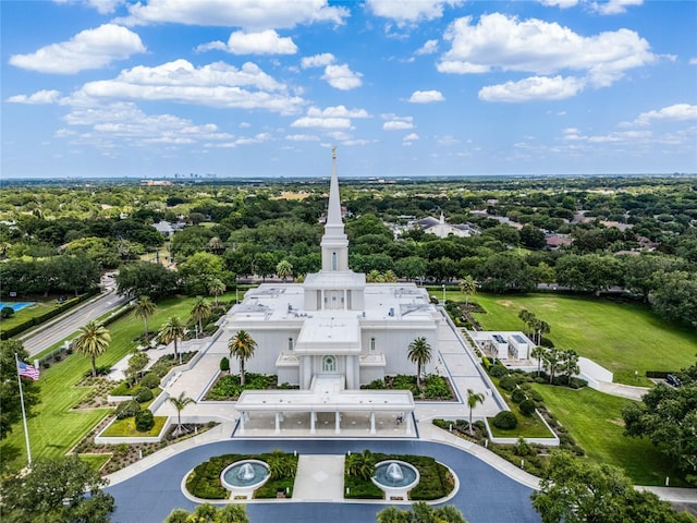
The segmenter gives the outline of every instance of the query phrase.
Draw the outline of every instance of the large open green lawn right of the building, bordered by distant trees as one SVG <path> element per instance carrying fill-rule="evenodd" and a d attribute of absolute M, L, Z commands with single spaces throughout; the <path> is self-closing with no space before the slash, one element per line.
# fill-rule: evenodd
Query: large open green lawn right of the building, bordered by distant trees
<path fill-rule="evenodd" d="M 452 292 L 448 299 L 464 301 L 464 295 Z M 664 323 L 639 304 L 557 294 L 477 294 L 470 301 L 487 311 L 475 314 L 486 330 L 523 330 L 518 313 L 530 311 L 551 326 L 548 338 L 555 346 L 602 365 L 615 382 L 650 386 L 646 370 L 678 370 L 695 362 L 697 333 Z"/>

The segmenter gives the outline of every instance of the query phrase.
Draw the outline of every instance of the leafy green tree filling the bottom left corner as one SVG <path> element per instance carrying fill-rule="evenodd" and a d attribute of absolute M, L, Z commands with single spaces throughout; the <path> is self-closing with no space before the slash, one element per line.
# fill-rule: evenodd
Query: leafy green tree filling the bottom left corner
<path fill-rule="evenodd" d="M 2 521 L 107 523 L 113 497 L 108 481 L 77 455 L 36 460 L 25 474 L 2 482 Z"/>

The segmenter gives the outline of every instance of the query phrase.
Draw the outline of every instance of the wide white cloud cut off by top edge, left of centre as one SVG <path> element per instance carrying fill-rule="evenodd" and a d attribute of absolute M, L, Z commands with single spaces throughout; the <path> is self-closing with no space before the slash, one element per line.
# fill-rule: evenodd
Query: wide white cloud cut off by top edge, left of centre
<path fill-rule="evenodd" d="M 343 24 L 348 10 L 330 7 L 327 0 L 149 0 L 129 7 L 126 24 L 178 23 L 186 25 L 290 28 L 298 24 Z"/>

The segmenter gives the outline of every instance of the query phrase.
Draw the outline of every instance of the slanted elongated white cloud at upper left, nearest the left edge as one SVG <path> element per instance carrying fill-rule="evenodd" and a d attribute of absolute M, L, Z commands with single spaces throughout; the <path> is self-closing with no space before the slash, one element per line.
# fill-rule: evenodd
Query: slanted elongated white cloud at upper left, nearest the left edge
<path fill-rule="evenodd" d="M 140 37 L 120 25 L 105 24 L 85 29 L 68 41 L 51 44 L 30 54 L 14 54 L 10 64 L 41 73 L 74 74 L 100 69 L 114 60 L 145 52 Z"/>

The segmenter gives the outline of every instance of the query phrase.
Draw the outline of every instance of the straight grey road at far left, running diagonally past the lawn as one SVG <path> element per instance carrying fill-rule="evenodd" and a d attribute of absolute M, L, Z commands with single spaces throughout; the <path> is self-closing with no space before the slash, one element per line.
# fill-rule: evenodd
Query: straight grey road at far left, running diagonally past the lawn
<path fill-rule="evenodd" d="M 34 356 L 53 343 L 69 337 L 87 321 L 99 318 L 126 301 L 126 297 L 117 294 L 113 281 L 107 281 L 107 285 L 101 295 L 78 305 L 76 308 L 59 316 L 50 324 L 42 325 L 21 336 L 20 340 L 29 355 Z"/>

